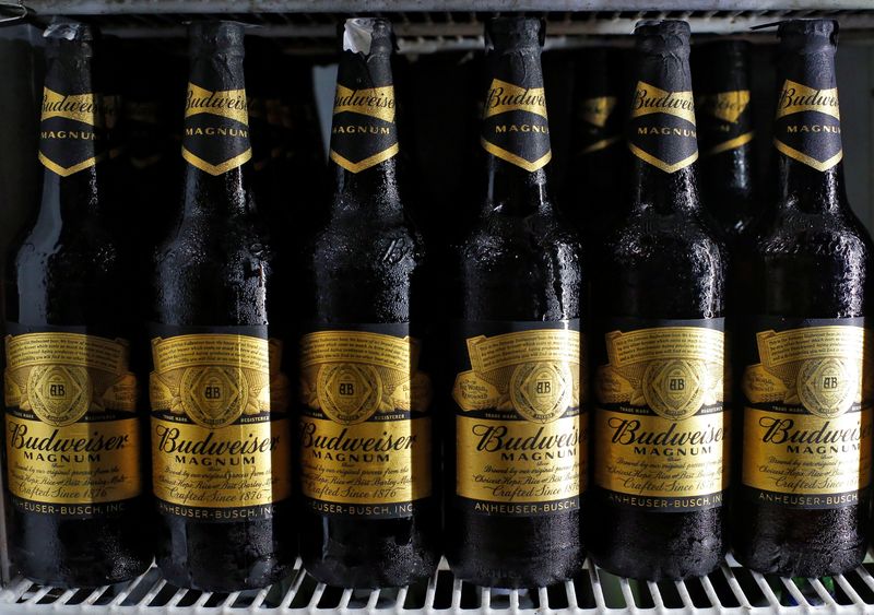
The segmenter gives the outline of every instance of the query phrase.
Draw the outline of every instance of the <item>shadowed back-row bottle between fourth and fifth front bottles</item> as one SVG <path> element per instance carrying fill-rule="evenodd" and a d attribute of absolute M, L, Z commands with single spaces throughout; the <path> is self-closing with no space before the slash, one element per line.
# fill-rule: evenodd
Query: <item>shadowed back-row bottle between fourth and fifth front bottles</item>
<path fill-rule="evenodd" d="M 624 197 L 622 75 L 618 49 L 591 47 L 577 55 L 574 139 L 563 205 L 568 217 L 584 233 L 587 249 L 601 241 Z"/>

